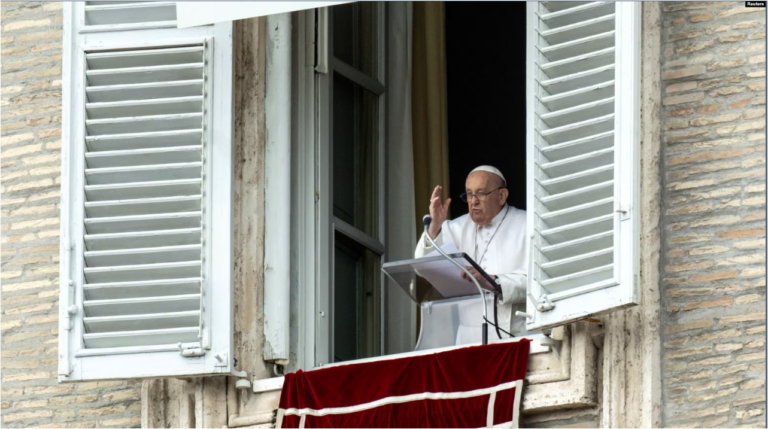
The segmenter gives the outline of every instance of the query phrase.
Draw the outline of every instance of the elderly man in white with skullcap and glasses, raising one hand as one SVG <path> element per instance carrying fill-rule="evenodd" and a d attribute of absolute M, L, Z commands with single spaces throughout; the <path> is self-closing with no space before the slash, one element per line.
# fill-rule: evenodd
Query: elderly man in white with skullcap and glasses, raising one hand
<path fill-rule="evenodd" d="M 430 199 L 432 223 L 428 233 L 438 246 L 453 242 L 496 280 L 501 286 L 499 325 L 509 330 L 511 305 L 525 303 L 528 251 L 525 210 L 507 205 L 506 185 L 504 175 L 495 167 L 483 165 L 472 170 L 465 182 L 466 191 L 461 194 L 469 204 L 469 213 L 454 220 L 446 220 L 451 199 L 442 202 L 442 187 L 437 186 Z M 416 257 L 433 250 L 422 235 Z M 494 289 L 474 268 L 467 269 L 482 287 Z"/>

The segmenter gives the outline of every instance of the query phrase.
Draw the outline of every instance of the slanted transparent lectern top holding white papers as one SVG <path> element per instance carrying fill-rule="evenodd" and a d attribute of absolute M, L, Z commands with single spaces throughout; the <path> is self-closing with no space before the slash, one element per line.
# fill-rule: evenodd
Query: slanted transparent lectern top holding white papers
<path fill-rule="evenodd" d="M 466 253 L 459 252 L 453 243 L 441 246 L 443 251 L 465 267 L 473 267 L 492 285 L 496 282 Z M 381 270 L 397 283 L 417 303 L 477 295 L 475 283 L 461 277 L 461 269 L 437 251 L 423 258 L 387 262 Z M 419 281 L 416 276 L 426 280 Z M 438 294 L 435 294 L 437 292 Z"/>

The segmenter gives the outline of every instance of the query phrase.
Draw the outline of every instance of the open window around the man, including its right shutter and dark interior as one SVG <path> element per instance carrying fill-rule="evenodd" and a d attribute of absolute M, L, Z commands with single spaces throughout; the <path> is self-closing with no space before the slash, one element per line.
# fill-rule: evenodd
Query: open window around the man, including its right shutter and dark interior
<path fill-rule="evenodd" d="M 466 213 L 458 196 L 481 164 L 507 175 L 508 204 L 528 212 L 528 300 L 515 310 L 529 330 L 637 303 L 639 6 L 437 7 L 424 22 L 404 5 L 304 15 L 317 32 L 305 91 L 317 145 L 294 153 L 314 153 L 319 174 L 305 182 L 318 274 L 301 367 L 412 350 L 416 306 L 378 269 L 411 257 L 435 185 L 449 188 L 451 218 Z M 467 31 L 473 14 L 484 32 Z"/>

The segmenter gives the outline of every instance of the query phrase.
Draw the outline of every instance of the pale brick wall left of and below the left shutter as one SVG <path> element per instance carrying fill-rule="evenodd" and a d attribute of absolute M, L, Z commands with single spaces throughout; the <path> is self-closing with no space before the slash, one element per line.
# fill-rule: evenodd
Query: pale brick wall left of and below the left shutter
<path fill-rule="evenodd" d="M 0 427 L 139 427 L 140 384 L 56 381 L 61 9 L 0 2 Z"/>

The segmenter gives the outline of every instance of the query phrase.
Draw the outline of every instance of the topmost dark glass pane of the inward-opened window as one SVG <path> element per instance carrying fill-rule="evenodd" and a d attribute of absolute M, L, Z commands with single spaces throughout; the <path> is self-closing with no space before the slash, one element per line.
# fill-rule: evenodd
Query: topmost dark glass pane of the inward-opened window
<path fill-rule="evenodd" d="M 376 3 L 350 3 L 331 8 L 333 56 L 362 71 L 376 73 Z"/>

